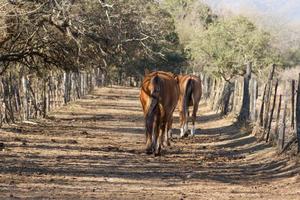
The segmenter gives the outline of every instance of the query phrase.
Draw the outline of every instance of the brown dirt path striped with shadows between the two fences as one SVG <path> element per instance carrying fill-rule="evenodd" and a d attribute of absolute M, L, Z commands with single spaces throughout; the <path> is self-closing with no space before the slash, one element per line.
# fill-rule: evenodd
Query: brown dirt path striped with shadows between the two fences
<path fill-rule="evenodd" d="M 194 138 L 146 155 L 137 96 L 102 88 L 49 120 L 1 129 L 0 199 L 300 199 L 299 160 L 203 106 Z"/>

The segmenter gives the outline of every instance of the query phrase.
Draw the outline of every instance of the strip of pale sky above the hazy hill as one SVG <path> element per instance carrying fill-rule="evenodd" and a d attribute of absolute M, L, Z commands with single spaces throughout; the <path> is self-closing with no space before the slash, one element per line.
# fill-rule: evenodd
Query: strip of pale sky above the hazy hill
<path fill-rule="evenodd" d="M 282 23 L 300 24 L 300 0 L 203 0 L 214 10 L 264 16 Z"/>

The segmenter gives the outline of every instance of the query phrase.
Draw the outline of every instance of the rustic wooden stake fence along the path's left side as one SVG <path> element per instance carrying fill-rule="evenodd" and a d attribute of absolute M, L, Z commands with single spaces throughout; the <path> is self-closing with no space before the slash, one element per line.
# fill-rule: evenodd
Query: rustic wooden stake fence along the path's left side
<path fill-rule="evenodd" d="M 89 71 L 8 72 L 0 77 L 0 127 L 46 117 L 51 110 L 81 98 L 104 84 L 99 69 Z"/>

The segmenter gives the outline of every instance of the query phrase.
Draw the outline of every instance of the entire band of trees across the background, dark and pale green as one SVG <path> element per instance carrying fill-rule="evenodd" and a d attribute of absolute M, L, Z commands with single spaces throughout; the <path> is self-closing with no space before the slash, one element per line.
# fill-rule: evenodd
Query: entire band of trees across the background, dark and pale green
<path fill-rule="evenodd" d="M 121 83 L 150 68 L 230 80 L 248 62 L 261 76 L 300 59 L 299 41 L 280 46 L 250 17 L 217 15 L 198 0 L 1 0 L 0 32 L 1 75 L 98 68 Z"/>

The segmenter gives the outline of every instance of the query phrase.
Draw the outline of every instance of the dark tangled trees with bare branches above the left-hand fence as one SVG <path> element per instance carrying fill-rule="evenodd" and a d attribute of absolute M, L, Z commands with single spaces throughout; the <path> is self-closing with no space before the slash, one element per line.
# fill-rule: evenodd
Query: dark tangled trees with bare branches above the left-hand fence
<path fill-rule="evenodd" d="M 172 16 L 154 0 L 17 1 L 1 11 L 0 74 L 21 64 L 37 72 L 97 67 L 120 78 L 185 61 Z"/>

